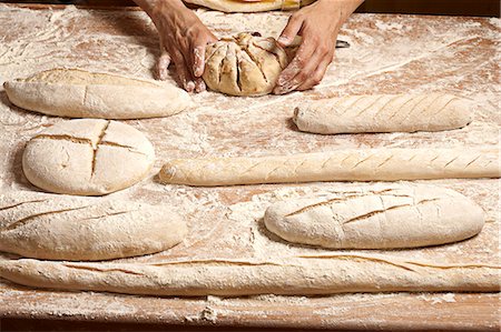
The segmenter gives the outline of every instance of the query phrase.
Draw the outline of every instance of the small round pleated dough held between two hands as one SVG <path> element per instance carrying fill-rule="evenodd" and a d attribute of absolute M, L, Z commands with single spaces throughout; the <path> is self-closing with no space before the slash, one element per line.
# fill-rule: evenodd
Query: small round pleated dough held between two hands
<path fill-rule="evenodd" d="M 239 33 L 206 49 L 204 80 L 214 90 L 232 95 L 272 92 L 287 56 L 273 38 Z"/>

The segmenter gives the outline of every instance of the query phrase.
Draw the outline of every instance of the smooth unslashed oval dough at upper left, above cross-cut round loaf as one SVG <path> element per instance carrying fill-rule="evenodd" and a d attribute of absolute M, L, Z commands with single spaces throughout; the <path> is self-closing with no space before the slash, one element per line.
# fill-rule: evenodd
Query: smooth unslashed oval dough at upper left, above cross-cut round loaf
<path fill-rule="evenodd" d="M 3 84 L 17 107 L 69 118 L 168 117 L 188 108 L 189 94 L 174 85 L 78 69 L 52 69 Z"/>

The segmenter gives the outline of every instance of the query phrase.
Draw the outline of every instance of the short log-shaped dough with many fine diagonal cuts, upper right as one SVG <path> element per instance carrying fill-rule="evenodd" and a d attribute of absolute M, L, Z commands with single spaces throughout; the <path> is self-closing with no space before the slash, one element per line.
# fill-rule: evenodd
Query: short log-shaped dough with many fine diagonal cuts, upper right
<path fill-rule="evenodd" d="M 302 131 L 315 133 L 441 131 L 472 121 L 470 102 L 446 93 L 352 95 L 310 101 L 294 111 Z"/>

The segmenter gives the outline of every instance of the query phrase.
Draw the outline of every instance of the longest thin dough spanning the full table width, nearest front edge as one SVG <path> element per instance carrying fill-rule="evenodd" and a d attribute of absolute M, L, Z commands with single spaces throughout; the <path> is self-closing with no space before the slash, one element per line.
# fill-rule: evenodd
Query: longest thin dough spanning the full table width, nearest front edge
<path fill-rule="evenodd" d="M 439 264 L 379 255 L 332 254 L 275 261 L 155 264 L 0 261 L 2 278 L 23 285 L 151 295 L 315 295 L 346 292 L 495 292 L 500 266 Z"/>

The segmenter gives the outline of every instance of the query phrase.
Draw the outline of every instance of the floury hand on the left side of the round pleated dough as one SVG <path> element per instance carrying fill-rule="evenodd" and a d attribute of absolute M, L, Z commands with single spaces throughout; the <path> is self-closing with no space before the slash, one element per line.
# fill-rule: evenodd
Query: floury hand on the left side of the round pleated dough
<path fill-rule="evenodd" d="M 157 62 L 158 78 L 167 79 L 168 67 L 174 62 L 177 79 L 186 91 L 205 91 L 202 79 L 205 48 L 217 38 L 180 0 L 136 2 L 151 17 L 159 33 L 161 56 Z"/>

